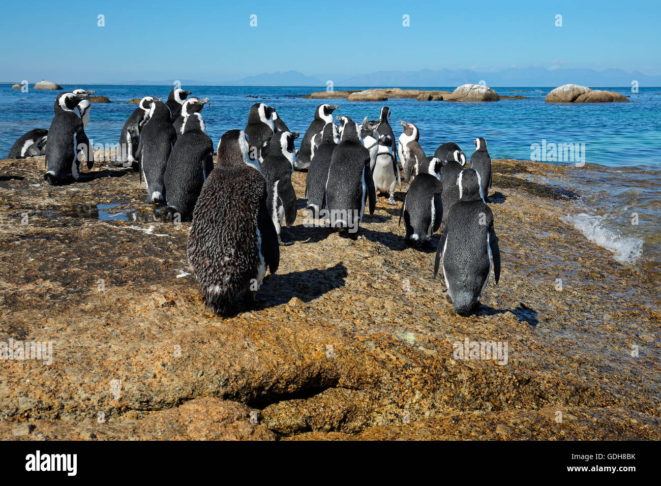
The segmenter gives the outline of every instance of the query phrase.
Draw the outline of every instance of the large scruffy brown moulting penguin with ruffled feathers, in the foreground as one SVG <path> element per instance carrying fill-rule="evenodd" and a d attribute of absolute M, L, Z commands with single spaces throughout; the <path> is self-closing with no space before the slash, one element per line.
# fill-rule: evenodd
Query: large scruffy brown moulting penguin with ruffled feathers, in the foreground
<path fill-rule="evenodd" d="M 280 264 L 266 181 L 249 147 L 243 131 L 223 134 L 217 164 L 202 186 L 188 231 L 188 264 L 206 305 L 221 315 L 241 296 L 254 300 L 266 267 L 274 274 Z"/>

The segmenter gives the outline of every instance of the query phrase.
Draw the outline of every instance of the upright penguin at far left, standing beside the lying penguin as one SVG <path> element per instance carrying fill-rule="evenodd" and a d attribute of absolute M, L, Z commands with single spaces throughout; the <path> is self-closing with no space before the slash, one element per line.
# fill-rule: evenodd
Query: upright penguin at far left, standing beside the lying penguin
<path fill-rule="evenodd" d="M 60 93 L 56 99 L 53 121 L 48 129 L 46 143 L 46 173 L 44 181 L 56 185 L 79 178 L 81 153 L 85 154 L 87 169 L 94 165 L 94 152 L 85 135 L 83 120 L 73 112 L 79 102 L 87 99 L 85 93 Z"/>

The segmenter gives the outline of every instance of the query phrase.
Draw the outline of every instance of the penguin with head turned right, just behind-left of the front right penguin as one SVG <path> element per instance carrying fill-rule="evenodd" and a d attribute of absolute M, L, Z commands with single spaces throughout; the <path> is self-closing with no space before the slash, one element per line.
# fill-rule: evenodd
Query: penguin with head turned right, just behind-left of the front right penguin
<path fill-rule="evenodd" d="M 443 184 L 439 175 L 441 165 L 436 157 L 428 157 L 427 172 L 418 173 L 408 187 L 398 223 L 401 224 L 404 216 L 407 245 L 428 247 L 432 235 L 441 227 L 444 209 L 441 200 Z"/>

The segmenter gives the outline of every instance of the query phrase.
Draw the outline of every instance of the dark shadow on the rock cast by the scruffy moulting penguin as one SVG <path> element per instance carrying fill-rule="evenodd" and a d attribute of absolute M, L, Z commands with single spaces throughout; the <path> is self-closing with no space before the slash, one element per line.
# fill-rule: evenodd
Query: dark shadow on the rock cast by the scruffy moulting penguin
<path fill-rule="evenodd" d="M 270 274 L 264 278 L 258 296 L 263 302 L 256 302 L 253 309 L 267 309 L 287 304 L 293 297 L 303 302 L 323 296 L 327 292 L 344 286 L 348 275 L 344 263 L 339 262 L 330 268 L 311 268 L 288 274 Z M 268 296 L 268 297 L 266 297 Z"/>

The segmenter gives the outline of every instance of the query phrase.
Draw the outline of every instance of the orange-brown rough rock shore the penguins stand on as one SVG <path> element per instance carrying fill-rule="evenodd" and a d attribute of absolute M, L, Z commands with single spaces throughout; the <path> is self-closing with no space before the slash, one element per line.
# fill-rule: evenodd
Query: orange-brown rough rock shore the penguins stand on
<path fill-rule="evenodd" d="M 405 247 L 403 192 L 350 241 L 303 226 L 295 172 L 295 243 L 265 302 L 221 319 L 137 173 L 54 187 L 44 157 L 2 160 L 0 341 L 53 353 L 0 360 L 0 438 L 658 440 L 658 290 L 559 220 L 568 170 L 494 160 L 502 274 L 467 318 Z M 506 360 L 457 357 L 484 341 Z"/>

